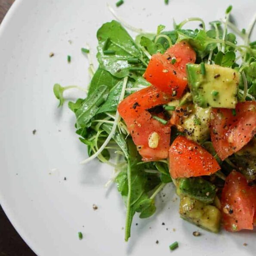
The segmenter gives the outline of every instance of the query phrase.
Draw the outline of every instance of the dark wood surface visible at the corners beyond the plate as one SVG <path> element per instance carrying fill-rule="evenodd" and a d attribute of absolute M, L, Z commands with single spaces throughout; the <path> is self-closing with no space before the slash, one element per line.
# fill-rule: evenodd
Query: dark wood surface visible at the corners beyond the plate
<path fill-rule="evenodd" d="M 0 0 L 0 23 L 14 0 Z M 35 254 L 13 228 L 0 206 L 0 256 L 34 256 Z"/>

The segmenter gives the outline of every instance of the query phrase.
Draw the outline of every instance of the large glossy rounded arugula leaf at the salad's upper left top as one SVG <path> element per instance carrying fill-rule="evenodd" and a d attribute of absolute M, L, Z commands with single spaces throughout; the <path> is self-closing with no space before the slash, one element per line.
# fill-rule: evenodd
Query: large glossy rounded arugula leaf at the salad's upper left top
<path fill-rule="evenodd" d="M 113 20 L 103 24 L 97 32 L 97 38 L 99 41 L 97 59 L 102 69 L 118 78 L 126 76 L 136 78 L 137 73 L 142 74 L 142 71 L 130 71 L 130 68 L 145 68 L 147 63 L 142 51 L 119 22 Z M 114 54 L 104 54 L 107 40 L 108 50 L 113 50 Z M 130 64 L 127 62 L 128 58 L 138 58 L 140 63 Z"/>

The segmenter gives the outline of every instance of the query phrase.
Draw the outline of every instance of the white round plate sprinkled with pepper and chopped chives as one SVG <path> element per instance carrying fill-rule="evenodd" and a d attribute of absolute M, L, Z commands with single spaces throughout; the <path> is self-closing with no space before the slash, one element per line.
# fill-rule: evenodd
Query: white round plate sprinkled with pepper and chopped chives
<path fill-rule="evenodd" d="M 110 2 L 114 6 L 115 0 Z M 219 19 L 230 3 L 170 0 L 165 6 L 164 0 L 126 0 L 116 10 L 131 25 L 152 31 L 158 24 L 171 29 L 173 18 Z M 238 27 L 246 28 L 255 0 L 232 4 Z M 79 164 L 86 148 L 74 133 L 74 116 L 66 104 L 57 108 L 52 93 L 56 82 L 88 84 L 88 62 L 80 48 L 87 42 L 96 53 L 96 31 L 111 19 L 101 0 L 16 0 L 1 24 L 0 203 L 12 224 L 38 255 L 169 255 L 174 241 L 179 241 L 176 255 L 255 255 L 253 232 L 200 230 L 202 236 L 194 237 L 198 228 L 179 218 L 172 185 L 158 198 L 153 217 L 134 218 L 132 237 L 124 242 L 123 202 L 115 186 L 104 188 L 111 168 L 97 160 Z M 55 56 L 49 58 L 49 52 Z"/>

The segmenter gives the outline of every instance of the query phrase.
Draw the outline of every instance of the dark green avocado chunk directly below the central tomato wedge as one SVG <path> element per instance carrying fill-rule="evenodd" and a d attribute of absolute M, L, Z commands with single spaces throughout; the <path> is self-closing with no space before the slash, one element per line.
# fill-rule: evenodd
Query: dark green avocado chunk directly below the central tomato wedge
<path fill-rule="evenodd" d="M 178 189 L 179 194 L 189 196 L 205 204 L 212 204 L 216 196 L 215 185 L 202 178 L 179 179 Z"/>

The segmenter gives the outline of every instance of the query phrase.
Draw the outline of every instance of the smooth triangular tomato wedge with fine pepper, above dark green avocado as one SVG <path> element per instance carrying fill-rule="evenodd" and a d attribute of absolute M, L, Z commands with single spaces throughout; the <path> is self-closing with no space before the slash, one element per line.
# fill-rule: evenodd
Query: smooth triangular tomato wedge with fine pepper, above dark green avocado
<path fill-rule="evenodd" d="M 203 147 L 178 136 L 169 149 L 170 174 L 174 179 L 211 175 L 220 170 L 216 159 Z"/>

